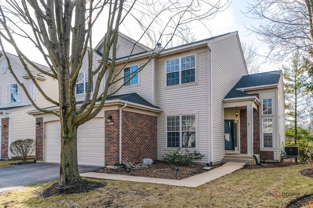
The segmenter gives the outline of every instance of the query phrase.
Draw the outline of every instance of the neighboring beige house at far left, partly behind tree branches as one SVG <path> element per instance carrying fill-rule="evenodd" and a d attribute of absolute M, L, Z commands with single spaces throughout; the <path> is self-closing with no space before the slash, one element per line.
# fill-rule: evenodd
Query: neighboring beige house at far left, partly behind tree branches
<path fill-rule="evenodd" d="M 26 74 L 19 57 L 7 54 L 10 59 L 12 70 L 26 87 L 32 99 L 40 107 L 51 106 L 40 94 L 32 80 Z M 45 66 L 37 64 L 38 67 L 48 70 Z M 29 66 L 34 72 L 33 76 L 43 90 L 53 99 L 58 99 L 58 83 L 50 77 L 36 74 L 36 69 Z M 29 110 L 34 109 L 26 94 L 8 69 L 8 64 L 0 52 L 0 158 L 8 159 L 14 157 L 9 150 L 12 142 L 19 139 L 36 138 L 36 118 L 29 115 Z M 42 125 L 42 124 L 41 124 Z M 40 124 L 38 124 L 40 126 Z M 35 154 L 35 152 L 33 153 Z"/>

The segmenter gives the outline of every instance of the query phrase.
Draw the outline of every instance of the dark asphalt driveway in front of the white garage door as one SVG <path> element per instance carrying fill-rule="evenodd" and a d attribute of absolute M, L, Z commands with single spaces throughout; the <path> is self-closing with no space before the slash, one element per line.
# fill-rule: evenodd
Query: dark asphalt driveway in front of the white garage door
<path fill-rule="evenodd" d="M 79 173 L 101 169 L 97 166 L 78 166 Z M 0 192 L 23 186 L 44 183 L 60 177 L 60 164 L 31 163 L 0 168 Z"/>

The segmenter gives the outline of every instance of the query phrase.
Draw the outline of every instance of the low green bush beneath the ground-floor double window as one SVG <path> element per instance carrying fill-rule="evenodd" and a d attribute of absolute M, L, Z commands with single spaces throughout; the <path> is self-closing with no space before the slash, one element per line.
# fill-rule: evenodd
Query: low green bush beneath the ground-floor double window
<path fill-rule="evenodd" d="M 163 156 L 163 161 L 172 165 L 191 165 L 193 160 L 201 159 L 204 156 L 199 151 L 189 152 L 186 150 L 183 152 L 181 148 L 165 155 L 166 156 Z"/>

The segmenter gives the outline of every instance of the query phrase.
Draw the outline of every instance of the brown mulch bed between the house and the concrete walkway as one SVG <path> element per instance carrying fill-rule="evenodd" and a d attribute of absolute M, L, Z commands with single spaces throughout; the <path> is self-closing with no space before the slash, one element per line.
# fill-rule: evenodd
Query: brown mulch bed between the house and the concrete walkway
<path fill-rule="evenodd" d="M 217 167 L 220 167 L 222 165 L 223 164 L 221 164 L 221 163 L 213 165 L 210 170 L 217 168 Z M 177 167 L 179 167 L 178 171 L 176 171 Z M 194 164 L 194 165 L 192 165 L 192 167 L 175 166 L 175 165 L 166 164 L 162 161 L 156 160 L 147 169 L 139 169 L 139 170 L 131 169 L 130 172 L 127 172 L 126 169 L 124 169 L 124 168 L 120 168 L 120 169 L 104 168 L 101 170 L 96 170 L 96 172 L 181 180 L 181 179 L 193 176 L 193 175 L 200 174 L 202 172 L 207 172 L 208 170 L 204 170 L 203 167 L 205 167 L 205 165 Z"/>

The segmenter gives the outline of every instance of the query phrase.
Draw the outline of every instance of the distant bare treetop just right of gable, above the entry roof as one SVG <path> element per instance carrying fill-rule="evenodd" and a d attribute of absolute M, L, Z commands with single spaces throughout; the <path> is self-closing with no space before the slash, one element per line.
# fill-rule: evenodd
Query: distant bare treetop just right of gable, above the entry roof
<path fill-rule="evenodd" d="M 242 43 L 241 47 L 243 49 L 249 75 L 258 73 L 262 63 L 258 60 L 257 48 L 253 47 L 252 44 L 247 45 L 246 43 Z"/>

